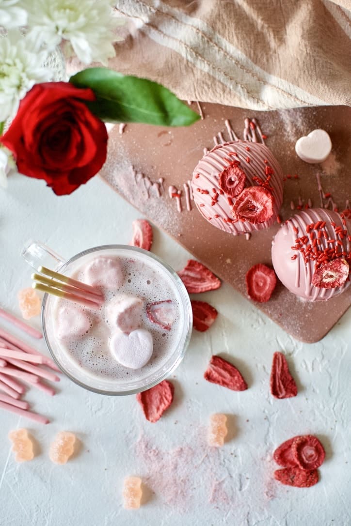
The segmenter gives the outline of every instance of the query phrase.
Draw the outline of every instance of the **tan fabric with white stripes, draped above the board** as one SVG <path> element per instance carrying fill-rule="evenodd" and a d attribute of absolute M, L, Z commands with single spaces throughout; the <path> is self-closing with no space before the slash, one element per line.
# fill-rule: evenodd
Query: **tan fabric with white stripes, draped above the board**
<path fill-rule="evenodd" d="M 257 110 L 351 105 L 351 0 L 118 0 L 110 66 L 178 97 Z"/>

